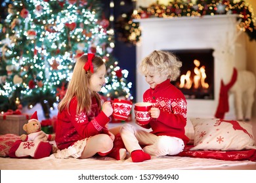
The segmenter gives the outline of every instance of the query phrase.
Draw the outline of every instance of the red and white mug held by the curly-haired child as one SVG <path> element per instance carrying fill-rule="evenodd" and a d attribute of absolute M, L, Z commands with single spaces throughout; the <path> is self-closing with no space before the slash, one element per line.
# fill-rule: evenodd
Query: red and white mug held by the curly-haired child
<path fill-rule="evenodd" d="M 135 119 L 139 124 L 145 125 L 150 122 L 151 116 L 150 112 L 148 111 L 150 110 L 151 107 L 152 103 L 135 103 Z"/>

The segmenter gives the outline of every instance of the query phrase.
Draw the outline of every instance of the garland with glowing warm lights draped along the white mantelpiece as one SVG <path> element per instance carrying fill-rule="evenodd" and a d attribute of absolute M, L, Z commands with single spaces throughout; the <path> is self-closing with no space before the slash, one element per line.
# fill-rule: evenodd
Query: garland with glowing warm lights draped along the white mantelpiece
<path fill-rule="evenodd" d="M 198 0 L 191 3 L 175 0 L 168 5 L 161 5 L 156 1 L 149 7 L 140 7 L 136 14 L 131 14 L 129 20 L 120 19 L 116 27 L 119 40 L 136 44 L 140 40 L 139 23 L 133 22 L 134 19 L 140 18 L 175 18 L 181 16 L 204 16 L 218 14 L 238 14 L 240 30 L 245 31 L 249 40 L 256 41 L 256 23 L 253 15 L 253 8 L 244 1 L 234 3 L 234 1 L 215 1 L 215 0 Z M 126 21 L 124 24 L 123 22 Z"/>

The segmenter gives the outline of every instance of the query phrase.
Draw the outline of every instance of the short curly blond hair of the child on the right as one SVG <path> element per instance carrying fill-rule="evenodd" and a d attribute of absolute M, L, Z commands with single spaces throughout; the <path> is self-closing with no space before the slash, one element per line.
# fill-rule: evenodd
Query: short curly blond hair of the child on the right
<path fill-rule="evenodd" d="M 139 64 L 139 71 L 143 75 L 160 73 L 167 75 L 170 81 L 176 80 L 180 75 L 181 61 L 171 52 L 154 50 L 151 54 L 142 59 Z"/>

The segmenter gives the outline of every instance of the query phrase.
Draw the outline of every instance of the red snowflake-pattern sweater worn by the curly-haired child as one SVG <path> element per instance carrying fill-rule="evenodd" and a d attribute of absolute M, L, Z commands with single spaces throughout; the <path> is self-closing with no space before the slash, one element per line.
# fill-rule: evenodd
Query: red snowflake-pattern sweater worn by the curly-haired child
<path fill-rule="evenodd" d="M 155 135 L 178 137 L 186 144 L 189 139 L 185 135 L 186 125 L 186 98 L 181 90 L 173 86 L 167 79 L 156 88 L 148 89 L 143 95 L 144 102 L 152 103 L 160 109 L 160 116 L 150 120 L 146 128 L 152 128 Z"/>

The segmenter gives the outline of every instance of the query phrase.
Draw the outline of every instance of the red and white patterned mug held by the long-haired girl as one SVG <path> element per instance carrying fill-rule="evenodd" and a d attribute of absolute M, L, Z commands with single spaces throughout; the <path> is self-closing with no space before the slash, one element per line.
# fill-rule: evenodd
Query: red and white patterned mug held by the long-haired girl
<path fill-rule="evenodd" d="M 113 117 L 116 120 L 125 121 L 131 113 L 131 107 L 133 103 L 131 101 L 125 101 L 122 99 L 114 99 L 112 101 Z"/>

